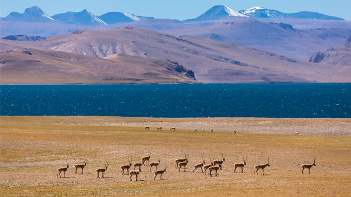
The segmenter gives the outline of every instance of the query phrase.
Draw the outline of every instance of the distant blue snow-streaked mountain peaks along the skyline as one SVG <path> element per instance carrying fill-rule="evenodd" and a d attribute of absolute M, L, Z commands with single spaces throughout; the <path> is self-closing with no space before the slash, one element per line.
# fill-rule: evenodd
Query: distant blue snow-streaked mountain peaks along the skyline
<path fill-rule="evenodd" d="M 327 16 L 314 12 L 299 12 L 286 14 L 276 10 L 255 7 L 248 10 L 234 11 L 227 6 L 214 6 L 204 14 L 195 19 L 187 19 L 183 22 L 213 21 L 226 17 L 249 17 L 249 18 L 297 18 L 297 19 L 321 19 L 321 20 L 343 20 L 341 18 Z M 79 13 L 67 12 L 49 17 L 40 8 L 34 6 L 25 10 L 23 14 L 12 12 L 9 16 L 1 18 L 4 21 L 17 22 L 59 22 L 64 24 L 78 25 L 107 25 L 123 22 L 134 22 L 140 19 L 153 19 L 152 17 L 141 17 L 130 13 L 110 12 L 99 17 L 87 10 Z"/>

